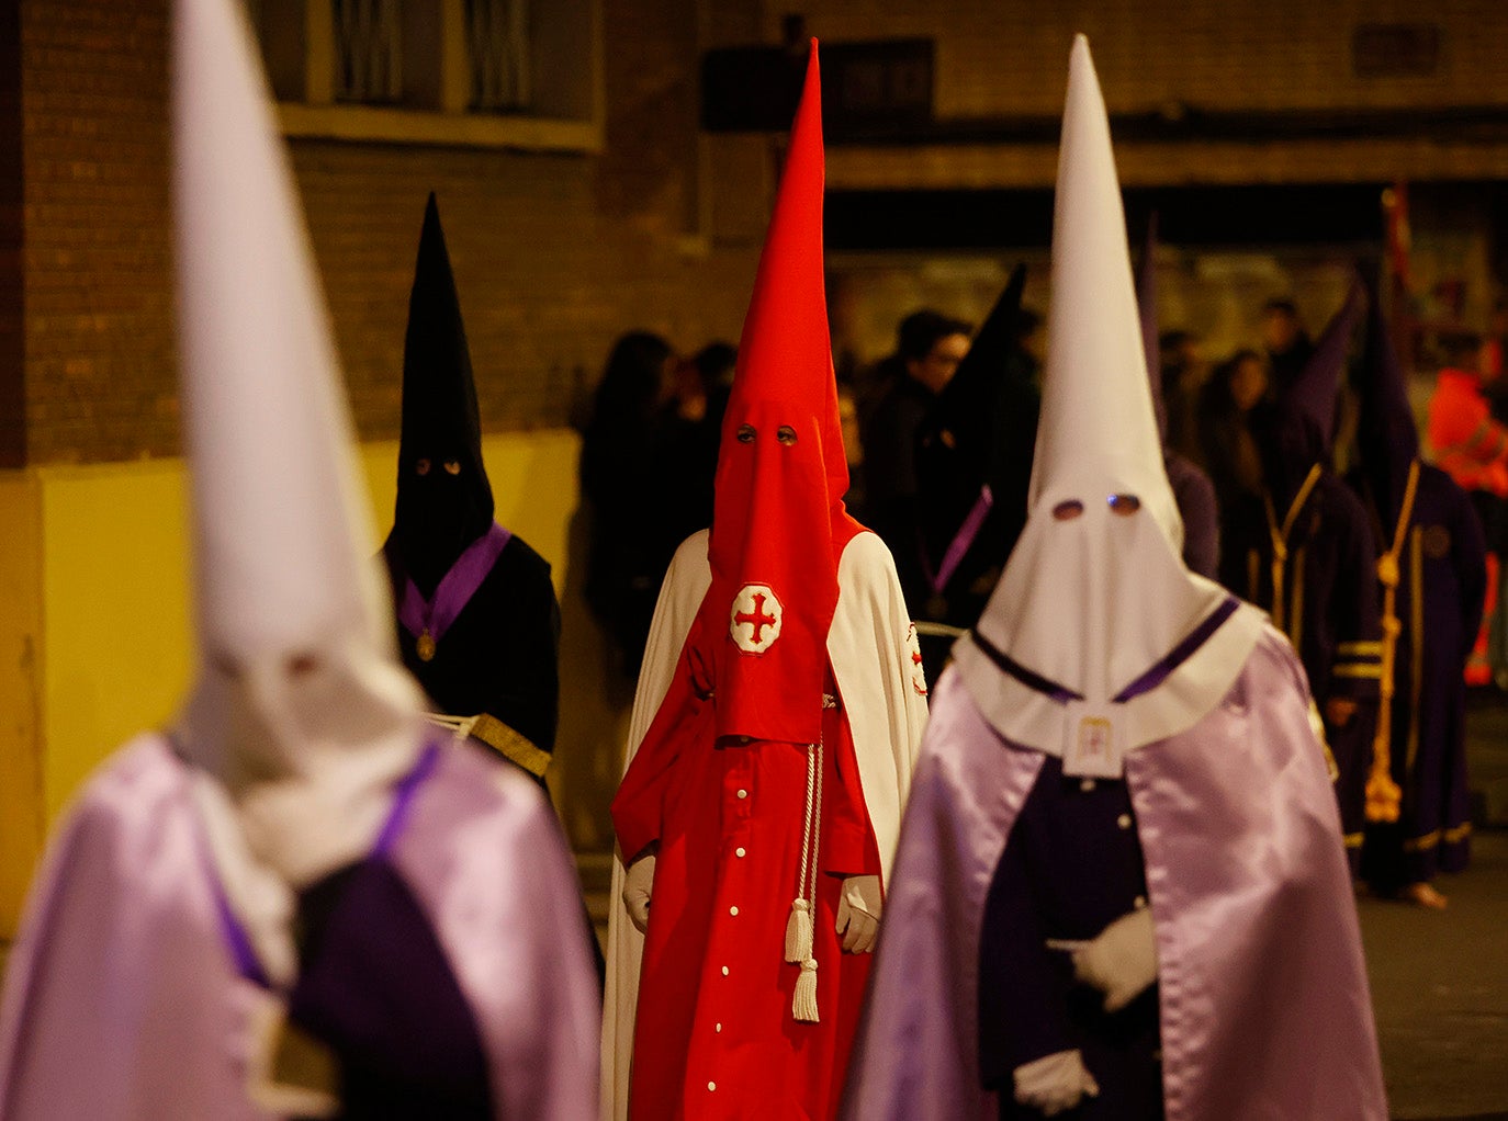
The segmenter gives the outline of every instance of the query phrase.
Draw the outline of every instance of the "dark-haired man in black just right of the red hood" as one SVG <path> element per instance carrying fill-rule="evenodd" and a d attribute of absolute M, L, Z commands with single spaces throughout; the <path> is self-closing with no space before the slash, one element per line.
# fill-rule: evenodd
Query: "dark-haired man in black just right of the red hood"
<path fill-rule="evenodd" d="M 879 363 L 873 405 L 860 411 L 864 444 L 864 523 L 879 533 L 896 557 L 900 586 L 911 598 L 926 583 L 917 557 L 920 529 L 917 431 L 938 395 L 968 354 L 973 327 L 923 309 L 900 322 L 896 353 Z"/>

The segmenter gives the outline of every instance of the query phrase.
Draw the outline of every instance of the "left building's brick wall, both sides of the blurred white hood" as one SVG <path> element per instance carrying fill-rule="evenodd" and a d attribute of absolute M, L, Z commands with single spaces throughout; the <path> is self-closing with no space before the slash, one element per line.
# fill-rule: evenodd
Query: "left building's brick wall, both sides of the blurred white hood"
<path fill-rule="evenodd" d="M 623 330 L 685 350 L 737 338 L 763 231 L 716 238 L 698 225 L 694 9 L 603 5 L 602 155 L 293 143 L 363 437 L 398 431 L 431 188 L 489 431 L 566 423 Z M 30 463 L 176 452 L 166 36 L 166 0 L 21 3 Z M 763 211 L 763 188 L 742 175 L 731 193 Z M 18 303 L 6 298 L 6 315 Z"/>

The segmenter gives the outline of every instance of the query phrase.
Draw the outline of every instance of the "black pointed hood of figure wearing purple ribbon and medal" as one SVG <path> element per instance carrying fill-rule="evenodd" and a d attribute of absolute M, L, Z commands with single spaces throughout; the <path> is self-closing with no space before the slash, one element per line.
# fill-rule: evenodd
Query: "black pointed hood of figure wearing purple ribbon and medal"
<path fill-rule="evenodd" d="M 397 559 L 425 594 L 493 518 L 466 327 L 433 191 L 403 345 Z"/>

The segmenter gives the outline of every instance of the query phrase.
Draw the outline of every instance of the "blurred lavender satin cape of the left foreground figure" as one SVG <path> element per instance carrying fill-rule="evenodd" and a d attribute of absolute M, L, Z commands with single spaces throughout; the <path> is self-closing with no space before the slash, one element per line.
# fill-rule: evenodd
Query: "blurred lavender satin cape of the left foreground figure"
<path fill-rule="evenodd" d="M 250 1008 L 216 913 L 190 773 L 142 735 L 50 847 L 0 1008 L 0 1116 L 261 1118 Z M 391 860 L 481 1031 L 499 1116 L 596 1110 L 597 993 L 575 872 L 522 773 L 445 747 Z"/>

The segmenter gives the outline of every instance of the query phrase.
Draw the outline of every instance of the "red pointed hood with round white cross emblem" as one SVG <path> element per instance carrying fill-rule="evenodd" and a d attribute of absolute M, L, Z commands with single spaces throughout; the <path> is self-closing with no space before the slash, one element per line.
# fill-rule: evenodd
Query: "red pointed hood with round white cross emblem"
<path fill-rule="evenodd" d="M 837 562 L 860 529 L 843 509 L 849 478 L 828 339 L 822 188 L 813 41 L 724 414 L 712 588 L 691 634 L 698 677 L 716 698 L 718 735 L 820 735 Z"/>

